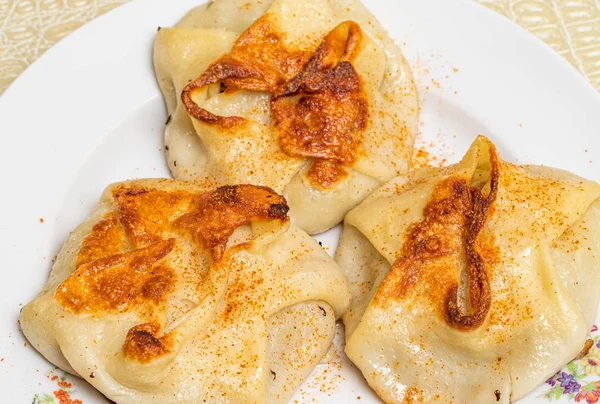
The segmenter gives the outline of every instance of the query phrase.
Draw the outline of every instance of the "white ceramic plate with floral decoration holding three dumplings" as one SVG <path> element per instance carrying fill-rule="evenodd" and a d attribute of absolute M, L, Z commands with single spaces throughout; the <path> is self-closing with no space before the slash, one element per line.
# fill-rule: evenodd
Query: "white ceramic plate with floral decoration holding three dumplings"
<path fill-rule="evenodd" d="M 1 402 L 59 403 L 61 394 L 104 402 L 75 377 L 59 384 L 63 373 L 26 344 L 17 317 L 107 184 L 169 175 L 151 45 L 157 26 L 172 25 L 198 2 L 136 0 L 120 7 L 59 43 L 0 97 Z M 600 98 L 552 50 L 468 0 L 366 4 L 413 67 L 422 144 L 434 142 L 439 156 L 454 161 L 482 133 L 506 159 L 600 180 Z M 336 235 L 322 239 L 334 248 Z M 341 361 L 320 365 L 297 402 L 379 402 Z M 577 372 L 583 373 L 572 378 Z M 596 388 L 594 372 L 600 367 L 572 365 L 522 403 L 546 402 L 545 395 L 593 400 L 594 392 L 582 392 Z"/>

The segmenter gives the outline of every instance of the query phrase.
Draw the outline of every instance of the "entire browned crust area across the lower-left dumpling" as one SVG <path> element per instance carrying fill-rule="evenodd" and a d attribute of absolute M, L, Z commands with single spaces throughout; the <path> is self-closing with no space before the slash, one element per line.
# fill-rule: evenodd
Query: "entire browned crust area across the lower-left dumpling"
<path fill-rule="evenodd" d="M 172 336 L 160 336 L 159 319 L 177 283 L 175 271 L 163 261 L 176 248 L 173 234 L 191 236 L 217 264 L 239 226 L 288 220 L 285 198 L 254 185 L 202 193 L 123 184 L 111 189 L 111 195 L 114 211 L 84 238 L 75 271 L 54 297 L 76 315 L 137 310 L 146 323 L 129 330 L 123 355 L 142 363 L 172 350 Z"/>

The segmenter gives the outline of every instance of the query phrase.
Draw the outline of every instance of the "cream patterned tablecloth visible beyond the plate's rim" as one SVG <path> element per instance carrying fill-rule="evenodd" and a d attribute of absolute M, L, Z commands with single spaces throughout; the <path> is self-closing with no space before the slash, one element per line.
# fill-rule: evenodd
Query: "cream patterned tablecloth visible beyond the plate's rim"
<path fill-rule="evenodd" d="M 61 38 L 127 1 L 0 0 L 0 94 Z M 475 1 L 540 37 L 600 90 L 600 0 Z"/>

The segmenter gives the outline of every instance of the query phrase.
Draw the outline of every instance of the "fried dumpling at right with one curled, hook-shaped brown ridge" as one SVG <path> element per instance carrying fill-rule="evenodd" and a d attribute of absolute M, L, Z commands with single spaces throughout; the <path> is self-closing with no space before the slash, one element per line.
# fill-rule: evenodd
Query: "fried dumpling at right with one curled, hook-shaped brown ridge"
<path fill-rule="evenodd" d="M 346 353 L 389 403 L 508 403 L 582 351 L 600 296 L 600 187 L 479 137 L 345 218 Z"/>

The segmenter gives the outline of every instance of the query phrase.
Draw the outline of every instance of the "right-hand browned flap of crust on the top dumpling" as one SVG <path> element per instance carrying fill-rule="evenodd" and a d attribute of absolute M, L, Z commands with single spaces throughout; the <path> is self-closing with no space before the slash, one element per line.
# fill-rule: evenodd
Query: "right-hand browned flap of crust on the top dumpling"
<path fill-rule="evenodd" d="M 288 155 L 355 162 L 369 116 L 362 82 L 350 63 L 362 35 L 356 23 L 338 25 L 302 72 L 275 92 L 273 121 Z M 309 178 L 319 184 L 319 177 Z"/>

